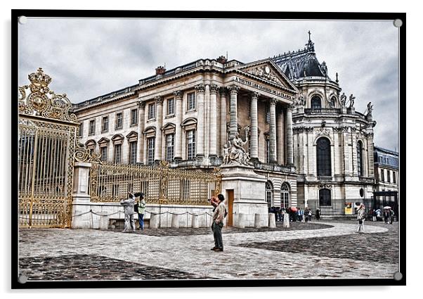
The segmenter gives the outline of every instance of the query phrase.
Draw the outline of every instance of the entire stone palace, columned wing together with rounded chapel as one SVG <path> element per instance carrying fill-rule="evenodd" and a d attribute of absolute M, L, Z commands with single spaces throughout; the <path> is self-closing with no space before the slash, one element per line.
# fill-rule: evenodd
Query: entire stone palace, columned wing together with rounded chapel
<path fill-rule="evenodd" d="M 254 202 L 261 214 L 271 206 L 308 206 L 345 215 L 344 206 L 370 198 L 375 185 L 376 122 L 371 103 L 358 113 L 354 99 L 341 94 L 338 76 L 328 77 L 309 38 L 303 50 L 252 63 L 221 56 L 160 66 L 155 75 L 72 110 L 79 140 L 102 160 L 244 167 L 263 190 L 235 190 L 234 204 Z"/>

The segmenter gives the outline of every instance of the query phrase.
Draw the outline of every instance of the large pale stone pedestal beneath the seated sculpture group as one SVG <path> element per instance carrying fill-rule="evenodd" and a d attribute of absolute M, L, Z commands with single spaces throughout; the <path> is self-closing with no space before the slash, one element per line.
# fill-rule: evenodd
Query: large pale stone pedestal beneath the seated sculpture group
<path fill-rule="evenodd" d="M 227 198 L 226 190 L 233 190 L 233 213 L 237 227 L 245 214 L 245 227 L 254 227 L 256 214 L 260 215 L 259 225 L 268 226 L 268 207 L 265 200 L 266 177 L 256 174 L 253 167 L 243 165 L 223 165 L 221 190 Z"/>

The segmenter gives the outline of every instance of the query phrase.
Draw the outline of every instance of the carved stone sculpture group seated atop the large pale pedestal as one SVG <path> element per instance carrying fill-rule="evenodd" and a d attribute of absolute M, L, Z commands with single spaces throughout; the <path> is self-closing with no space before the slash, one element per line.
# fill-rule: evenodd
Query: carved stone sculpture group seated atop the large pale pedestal
<path fill-rule="evenodd" d="M 249 127 L 245 127 L 245 141 L 242 141 L 240 134 L 236 133 L 232 141 L 223 146 L 223 165 L 245 165 L 252 166 L 249 162 L 250 156 L 245 151 L 245 144 L 248 142 Z"/>

